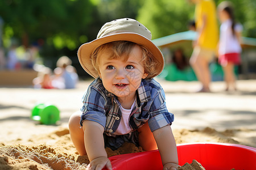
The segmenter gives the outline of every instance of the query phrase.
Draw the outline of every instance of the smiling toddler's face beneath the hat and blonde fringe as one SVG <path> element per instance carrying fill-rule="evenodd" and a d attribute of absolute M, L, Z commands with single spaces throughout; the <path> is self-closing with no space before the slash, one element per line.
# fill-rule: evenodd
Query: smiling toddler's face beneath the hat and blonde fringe
<path fill-rule="evenodd" d="M 101 53 L 98 68 L 100 78 L 106 90 L 116 95 L 118 99 L 134 99 L 135 92 L 141 84 L 141 79 L 148 75 L 144 73 L 142 61 L 142 49 L 134 46 L 127 61 L 120 59 L 109 59 L 112 52 L 106 49 Z"/>

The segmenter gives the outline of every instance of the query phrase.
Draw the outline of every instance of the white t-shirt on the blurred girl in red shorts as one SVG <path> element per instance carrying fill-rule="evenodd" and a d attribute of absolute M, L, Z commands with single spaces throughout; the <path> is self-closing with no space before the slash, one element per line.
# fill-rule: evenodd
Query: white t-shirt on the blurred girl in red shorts
<path fill-rule="evenodd" d="M 242 31 L 242 25 L 236 24 L 234 26 L 235 32 Z M 220 44 L 218 48 L 218 53 L 220 55 L 228 54 L 228 53 L 240 53 L 241 45 L 237 39 L 236 35 L 233 35 L 232 32 L 232 21 L 226 20 L 220 26 Z"/>

